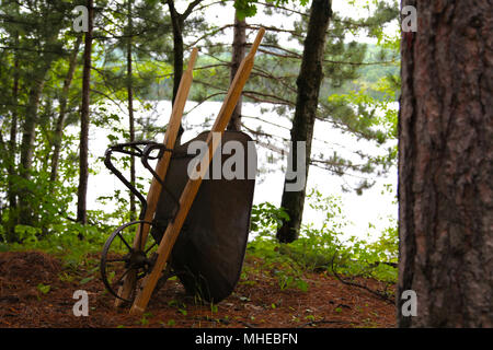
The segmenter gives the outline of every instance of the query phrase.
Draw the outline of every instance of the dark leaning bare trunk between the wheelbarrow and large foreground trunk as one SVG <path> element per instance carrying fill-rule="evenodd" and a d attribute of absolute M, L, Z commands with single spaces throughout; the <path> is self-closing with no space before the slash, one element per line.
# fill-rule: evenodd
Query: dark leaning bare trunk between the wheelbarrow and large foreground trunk
<path fill-rule="evenodd" d="M 312 1 L 307 38 L 303 44 L 301 69 L 296 81 L 298 92 L 291 128 L 293 165 L 297 171 L 299 171 L 299 167 L 305 167 L 305 178 L 308 178 L 311 139 L 313 137 L 319 91 L 323 78 L 323 52 L 331 16 L 332 7 L 330 0 Z M 297 142 L 306 142 L 305 164 L 297 164 Z M 288 183 L 290 180 L 286 178 L 280 206 L 289 214 L 290 220 L 283 222 L 282 228 L 277 231 L 277 240 L 284 243 L 290 243 L 299 235 L 306 194 L 306 183 L 302 189 L 298 191 L 286 190 Z"/>

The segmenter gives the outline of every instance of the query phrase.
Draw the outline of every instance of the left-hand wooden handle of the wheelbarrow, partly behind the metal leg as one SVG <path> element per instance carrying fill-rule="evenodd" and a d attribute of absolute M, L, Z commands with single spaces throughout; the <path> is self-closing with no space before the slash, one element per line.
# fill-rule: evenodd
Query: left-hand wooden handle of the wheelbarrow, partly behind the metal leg
<path fill-rule="evenodd" d="M 192 84 L 193 75 L 192 71 L 195 66 L 195 61 L 197 59 L 197 48 L 192 50 L 188 67 L 186 71 L 182 75 L 182 80 L 180 81 L 180 86 L 176 93 L 176 98 L 173 104 L 173 109 L 171 112 L 170 121 L 168 124 L 167 132 L 164 135 L 164 147 L 167 149 L 173 149 L 174 143 L 176 141 L 177 132 L 180 130 L 180 122 L 183 116 L 183 109 L 185 107 L 186 98 L 188 97 L 190 86 Z M 168 172 L 168 166 L 171 161 L 171 152 L 164 152 L 162 158 L 159 160 L 158 165 L 156 166 L 156 173 L 159 175 L 161 179 L 164 179 Z M 156 207 L 158 206 L 158 200 L 161 195 L 161 184 L 152 177 L 152 183 L 147 195 L 147 210 L 144 217 L 146 221 L 152 221 Z M 135 240 L 134 240 L 134 248 L 141 249 L 146 245 L 147 236 L 149 234 L 150 225 L 144 224 L 142 228 L 140 225 L 137 228 Z M 118 290 L 118 295 L 123 299 L 130 299 L 131 293 L 135 290 L 137 282 L 137 276 L 135 271 L 129 272 L 123 285 Z M 123 300 L 116 299 L 115 306 L 121 306 Z"/>

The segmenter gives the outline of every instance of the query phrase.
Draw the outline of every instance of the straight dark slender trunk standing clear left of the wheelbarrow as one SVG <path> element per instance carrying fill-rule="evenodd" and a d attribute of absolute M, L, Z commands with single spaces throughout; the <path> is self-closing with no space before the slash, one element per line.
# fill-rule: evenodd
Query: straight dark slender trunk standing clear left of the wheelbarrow
<path fill-rule="evenodd" d="M 82 106 L 80 113 L 80 164 L 79 164 L 79 188 L 77 192 L 77 222 L 85 224 L 87 195 L 89 178 L 89 107 L 91 91 L 91 51 L 92 51 L 92 27 L 93 27 L 93 0 L 88 0 L 88 32 L 84 35 L 84 66 L 82 71 Z"/>

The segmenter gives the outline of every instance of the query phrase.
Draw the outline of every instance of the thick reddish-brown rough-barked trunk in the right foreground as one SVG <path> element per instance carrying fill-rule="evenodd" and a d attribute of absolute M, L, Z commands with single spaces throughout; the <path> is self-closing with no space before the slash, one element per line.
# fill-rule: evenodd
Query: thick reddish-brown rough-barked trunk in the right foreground
<path fill-rule="evenodd" d="M 419 26 L 401 45 L 398 324 L 492 327 L 493 8 L 402 5 L 417 8 Z"/>

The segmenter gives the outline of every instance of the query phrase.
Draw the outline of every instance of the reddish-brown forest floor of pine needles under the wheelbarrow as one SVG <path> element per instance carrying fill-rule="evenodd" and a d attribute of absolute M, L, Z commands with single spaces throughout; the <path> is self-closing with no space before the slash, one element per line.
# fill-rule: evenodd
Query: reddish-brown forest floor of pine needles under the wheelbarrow
<path fill-rule="evenodd" d="M 261 261 L 251 256 L 234 292 L 220 303 L 196 303 L 177 280 L 169 280 L 154 292 L 142 316 L 130 316 L 128 307 L 113 307 L 98 262 L 96 257 L 89 258 L 74 270 L 41 252 L 0 253 L 0 327 L 395 327 L 394 305 L 367 290 L 326 272 L 305 273 L 307 291 L 282 290 L 271 271 L 259 268 Z M 374 290 L 383 285 L 368 279 L 359 282 Z M 73 315 L 77 290 L 89 294 L 88 317 Z"/>

